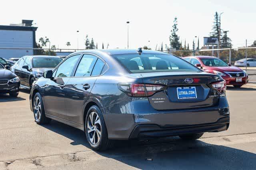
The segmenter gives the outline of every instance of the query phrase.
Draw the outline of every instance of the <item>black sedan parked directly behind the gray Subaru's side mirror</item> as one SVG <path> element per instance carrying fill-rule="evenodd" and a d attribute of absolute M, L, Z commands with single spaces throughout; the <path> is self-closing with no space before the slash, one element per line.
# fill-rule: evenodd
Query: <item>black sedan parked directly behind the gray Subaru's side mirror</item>
<path fill-rule="evenodd" d="M 54 69 L 61 61 L 55 56 L 24 56 L 12 66 L 11 71 L 20 78 L 21 87 L 30 89 L 45 70 Z"/>

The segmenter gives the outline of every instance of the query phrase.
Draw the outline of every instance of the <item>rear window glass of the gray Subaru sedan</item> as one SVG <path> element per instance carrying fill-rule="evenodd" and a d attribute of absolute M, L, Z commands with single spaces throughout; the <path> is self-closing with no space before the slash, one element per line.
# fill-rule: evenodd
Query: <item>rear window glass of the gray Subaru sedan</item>
<path fill-rule="evenodd" d="M 200 71 L 179 57 L 168 54 L 122 54 L 113 57 L 132 73 Z"/>

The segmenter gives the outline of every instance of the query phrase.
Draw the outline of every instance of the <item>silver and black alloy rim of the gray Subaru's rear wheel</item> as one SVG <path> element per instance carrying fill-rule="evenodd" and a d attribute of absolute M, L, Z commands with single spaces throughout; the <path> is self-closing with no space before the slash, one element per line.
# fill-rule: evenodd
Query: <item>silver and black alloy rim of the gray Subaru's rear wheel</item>
<path fill-rule="evenodd" d="M 87 135 L 93 145 L 99 143 L 101 138 L 101 122 L 98 113 L 92 111 L 88 117 Z"/>

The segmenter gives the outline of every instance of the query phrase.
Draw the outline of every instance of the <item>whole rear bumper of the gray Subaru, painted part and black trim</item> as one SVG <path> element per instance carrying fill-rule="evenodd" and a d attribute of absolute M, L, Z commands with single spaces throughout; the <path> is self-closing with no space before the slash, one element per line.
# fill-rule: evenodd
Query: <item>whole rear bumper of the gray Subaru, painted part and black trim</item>
<path fill-rule="evenodd" d="M 132 101 L 130 107 L 126 103 L 124 108 L 120 105 L 104 108 L 107 114 L 103 114 L 103 117 L 109 139 L 219 132 L 227 130 L 229 126 L 230 113 L 225 96 L 219 98 L 218 105 L 211 107 L 156 110 L 148 99 L 138 99 Z"/>

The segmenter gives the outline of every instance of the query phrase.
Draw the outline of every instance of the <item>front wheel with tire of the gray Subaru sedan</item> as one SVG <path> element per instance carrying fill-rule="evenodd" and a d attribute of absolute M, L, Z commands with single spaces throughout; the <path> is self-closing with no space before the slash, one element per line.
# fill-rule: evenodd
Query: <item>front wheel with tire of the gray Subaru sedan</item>
<path fill-rule="evenodd" d="M 35 122 L 38 125 L 48 124 L 51 119 L 45 116 L 44 104 L 40 93 L 36 93 L 33 99 L 33 112 Z"/>

